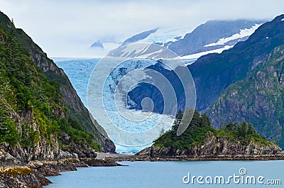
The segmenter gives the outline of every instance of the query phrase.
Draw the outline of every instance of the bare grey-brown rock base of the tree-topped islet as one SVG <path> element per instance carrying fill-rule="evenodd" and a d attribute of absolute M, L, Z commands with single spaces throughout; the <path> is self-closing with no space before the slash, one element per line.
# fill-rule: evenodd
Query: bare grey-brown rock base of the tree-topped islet
<path fill-rule="evenodd" d="M 268 145 L 261 145 L 253 143 L 242 145 L 237 140 L 229 140 L 227 138 L 216 138 L 213 133 L 207 133 L 204 142 L 187 148 L 179 150 L 175 148 L 158 148 L 152 145 L 150 148 L 141 150 L 137 155 L 148 155 L 151 157 L 157 156 L 215 156 L 215 155 L 278 155 L 283 154 L 281 148 L 275 143 Z"/>

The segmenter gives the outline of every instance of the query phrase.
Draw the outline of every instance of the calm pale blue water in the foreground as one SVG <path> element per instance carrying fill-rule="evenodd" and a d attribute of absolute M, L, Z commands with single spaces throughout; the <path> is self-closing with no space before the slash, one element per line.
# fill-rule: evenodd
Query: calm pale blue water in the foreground
<path fill-rule="evenodd" d="M 215 161 L 215 162 L 120 162 L 126 167 L 89 167 L 78 168 L 77 172 L 62 172 L 62 176 L 48 177 L 53 184 L 51 187 L 72 188 L 72 187 L 87 187 L 87 188 L 128 188 L 128 187 L 149 187 L 149 188 L 179 188 L 179 187 L 284 187 L 284 161 Z M 240 175 L 241 168 L 245 175 Z M 204 184 L 199 184 L 197 179 L 194 179 L 194 184 L 184 184 L 182 178 L 190 173 L 192 176 L 204 177 Z M 230 179 L 229 176 L 236 176 Z M 225 184 L 214 184 L 216 176 L 223 176 Z M 256 184 L 241 183 L 241 178 L 246 179 L 248 176 L 256 178 Z M 260 177 L 262 176 L 263 179 Z M 212 177 L 212 184 L 210 182 Z M 260 177 L 258 184 L 257 179 Z M 190 178 L 190 179 L 191 179 Z M 266 180 L 280 179 L 281 184 L 268 185 Z M 185 179 L 187 181 L 187 179 Z M 278 180 L 276 180 L 278 181 Z M 276 182 L 274 181 L 274 182 Z M 202 182 L 202 180 L 200 181 Z"/>

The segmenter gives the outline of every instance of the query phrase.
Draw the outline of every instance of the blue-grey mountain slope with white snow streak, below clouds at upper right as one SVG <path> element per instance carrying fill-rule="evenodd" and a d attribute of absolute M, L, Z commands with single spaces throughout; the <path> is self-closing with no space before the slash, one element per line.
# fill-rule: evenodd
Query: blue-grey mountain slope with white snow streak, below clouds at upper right
<path fill-rule="evenodd" d="M 224 48 L 246 40 L 264 21 L 207 21 L 184 38 L 167 44 L 180 56 Z"/>

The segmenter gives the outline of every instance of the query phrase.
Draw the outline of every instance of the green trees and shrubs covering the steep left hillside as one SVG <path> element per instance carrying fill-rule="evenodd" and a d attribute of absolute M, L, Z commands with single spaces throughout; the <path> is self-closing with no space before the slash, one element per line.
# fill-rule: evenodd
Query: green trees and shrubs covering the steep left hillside
<path fill-rule="evenodd" d="M 0 143 L 28 148 L 45 137 L 52 144 L 53 136 L 60 138 L 63 132 L 73 143 L 102 150 L 68 115 L 58 82 L 48 80 L 17 43 L 13 23 L 9 33 L 0 24 Z"/>

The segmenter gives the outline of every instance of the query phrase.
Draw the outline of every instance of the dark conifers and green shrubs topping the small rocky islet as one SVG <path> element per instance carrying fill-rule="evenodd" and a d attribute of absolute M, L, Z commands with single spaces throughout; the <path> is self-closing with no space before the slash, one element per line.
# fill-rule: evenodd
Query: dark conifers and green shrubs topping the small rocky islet
<path fill-rule="evenodd" d="M 185 113 L 187 113 L 187 110 Z M 185 132 L 180 136 L 177 136 L 178 126 L 180 125 L 182 116 L 182 111 L 179 111 L 175 117 L 175 123 L 172 130 L 167 131 L 155 140 L 155 146 L 159 148 L 172 147 L 180 150 L 192 148 L 192 146 L 202 143 L 207 136 L 207 133 L 213 133 L 217 138 L 227 138 L 232 142 L 236 140 L 240 141 L 242 145 L 248 145 L 250 141 L 261 143 L 263 145 L 269 144 L 266 138 L 263 138 L 256 133 L 251 123 L 233 123 L 229 121 L 226 126 L 217 130 L 210 126 L 210 121 L 206 114 L 200 116 L 196 110 L 194 111 L 192 121 L 187 126 Z"/>

